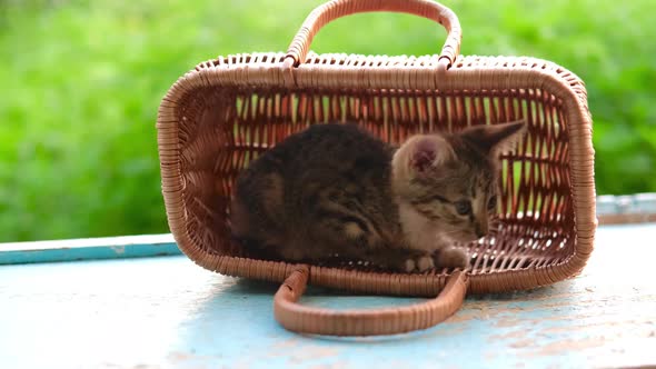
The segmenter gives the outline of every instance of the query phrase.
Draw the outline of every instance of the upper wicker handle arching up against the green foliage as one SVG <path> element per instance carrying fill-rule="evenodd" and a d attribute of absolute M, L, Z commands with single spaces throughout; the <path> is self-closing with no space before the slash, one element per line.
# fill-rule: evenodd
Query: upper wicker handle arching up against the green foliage
<path fill-rule="evenodd" d="M 392 11 L 431 19 L 448 32 L 439 56 L 439 64 L 446 70 L 460 52 L 463 31 L 458 17 L 449 8 L 433 0 L 332 0 L 312 10 L 294 37 L 285 56 L 287 68 L 305 62 L 315 34 L 330 21 L 361 12 Z"/>

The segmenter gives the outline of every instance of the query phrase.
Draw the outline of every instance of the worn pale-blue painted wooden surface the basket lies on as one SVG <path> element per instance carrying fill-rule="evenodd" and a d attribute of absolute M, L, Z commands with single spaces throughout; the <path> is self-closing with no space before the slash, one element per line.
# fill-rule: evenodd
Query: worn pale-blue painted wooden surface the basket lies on
<path fill-rule="evenodd" d="M 277 286 L 185 257 L 0 267 L 0 368 L 587 368 L 656 365 L 656 225 L 603 227 L 582 276 L 468 298 L 445 323 L 381 338 L 290 333 Z M 304 303 L 416 299 L 314 289 Z"/>

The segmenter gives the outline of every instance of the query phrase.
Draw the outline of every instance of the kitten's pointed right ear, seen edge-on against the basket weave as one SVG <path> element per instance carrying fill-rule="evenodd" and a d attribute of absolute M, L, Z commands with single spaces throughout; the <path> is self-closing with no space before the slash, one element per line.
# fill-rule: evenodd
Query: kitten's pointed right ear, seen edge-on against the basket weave
<path fill-rule="evenodd" d="M 499 154 L 514 150 L 526 131 L 526 120 L 494 126 L 477 126 L 460 132 L 460 137 L 483 151 Z"/>

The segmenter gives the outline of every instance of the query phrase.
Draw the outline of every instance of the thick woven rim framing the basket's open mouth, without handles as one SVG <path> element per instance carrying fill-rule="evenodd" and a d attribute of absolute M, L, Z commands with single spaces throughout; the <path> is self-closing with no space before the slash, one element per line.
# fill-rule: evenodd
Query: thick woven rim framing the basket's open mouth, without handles
<path fill-rule="evenodd" d="M 570 189 L 576 237 L 574 253 L 558 265 L 469 273 L 468 291 L 530 289 L 573 277 L 585 267 L 594 249 L 597 219 L 592 116 L 584 82 L 576 74 L 550 61 L 530 57 L 459 57 L 454 67 L 446 72 L 436 68 L 438 56 L 311 53 L 306 63 L 291 69 L 282 68 L 284 57 L 285 54 L 279 52 L 242 53 L 199 63 L 180 77 L 161 101 L 157 129 L 167 219 L 178 247 L 193 262 L 222 275 L 277 282 L 284 281 L 298 267 L 288 262 L 210 253 L 196 248 L 189 238 L 183 223 L 183 183 L 179 177 L 176 110 L 180 100 L 198 89 L 280 87 L 288 90 L 398 89 L 465 91 L 464 93 L 539 89 L 563 101 L 564 113 L 568 120 Z M 375 60 L 377 64 L 371 64 Z M 446 278 L 449 276 L 308 267 L 311 285 L 374 293 L 435 296 L 446 285 Z"/>

